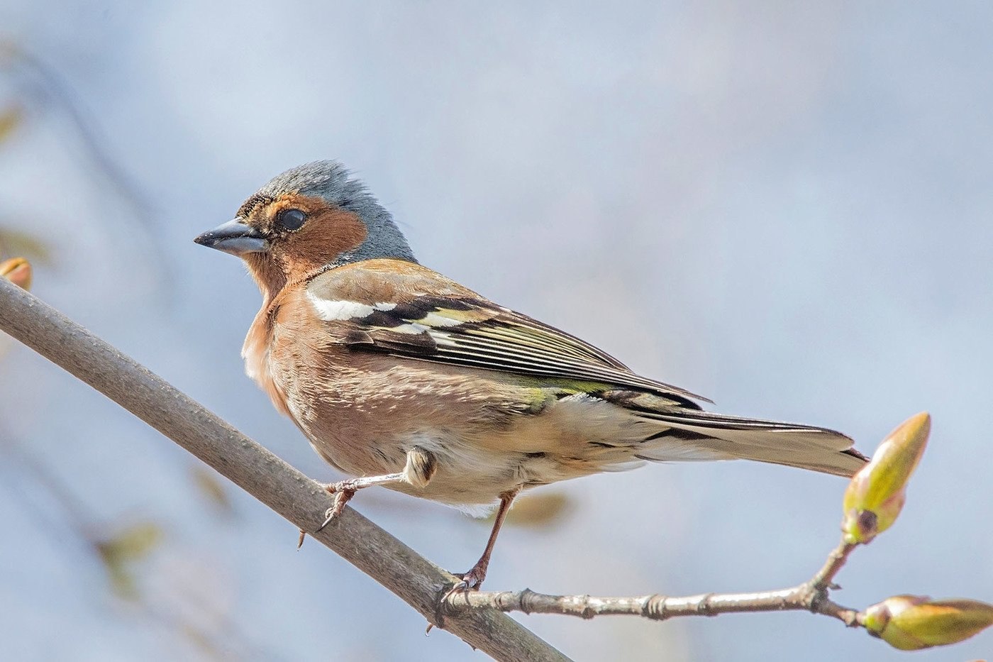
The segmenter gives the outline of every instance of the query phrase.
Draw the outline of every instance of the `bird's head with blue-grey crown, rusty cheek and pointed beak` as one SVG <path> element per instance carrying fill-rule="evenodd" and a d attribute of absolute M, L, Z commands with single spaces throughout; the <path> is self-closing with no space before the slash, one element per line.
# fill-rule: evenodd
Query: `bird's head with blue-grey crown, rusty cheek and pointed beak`
<path fill-rule="evenodd" d="M 416 261 L 392 217 L 337 161 L 273 178 L 195 240 L 241 257 L 267 296 L 316 271 L 377 257 Z"/>

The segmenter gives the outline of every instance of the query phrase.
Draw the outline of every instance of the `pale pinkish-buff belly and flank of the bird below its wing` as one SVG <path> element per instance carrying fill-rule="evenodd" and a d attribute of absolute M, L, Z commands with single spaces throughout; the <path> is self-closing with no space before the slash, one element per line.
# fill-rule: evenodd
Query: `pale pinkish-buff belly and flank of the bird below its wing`
<path fill-rule="evenodd" d="M 319 392 L 300 390 L 295 377 L 280 380 L 280 391 L 322 457 L 353 476 L 375 476 L 402 471 L 416 447 L 436 460 L 430 481 L 387 486 L 454 505 L 634 468 L 643 463 L 635 457 L 640 440 L 657 429 L 588 396 L 467 381 L 435 366 L 325 375 Z"/>

